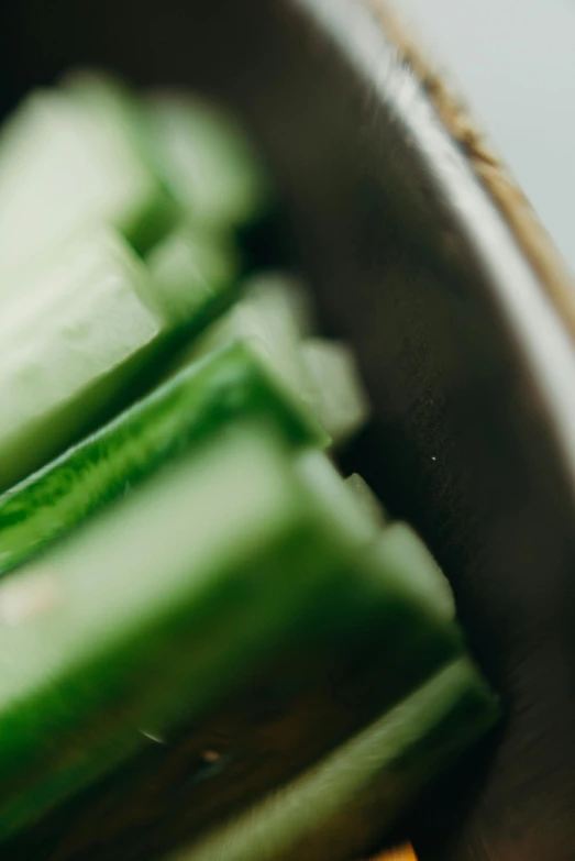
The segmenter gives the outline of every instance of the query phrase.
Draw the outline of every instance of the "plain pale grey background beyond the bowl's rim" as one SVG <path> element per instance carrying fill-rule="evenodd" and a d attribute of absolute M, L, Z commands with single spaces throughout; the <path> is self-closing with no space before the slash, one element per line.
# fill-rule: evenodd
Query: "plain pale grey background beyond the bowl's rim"
<path fill-rule="evenodd" d="M 575 2 L 396 0 L 575 273 Z"/>

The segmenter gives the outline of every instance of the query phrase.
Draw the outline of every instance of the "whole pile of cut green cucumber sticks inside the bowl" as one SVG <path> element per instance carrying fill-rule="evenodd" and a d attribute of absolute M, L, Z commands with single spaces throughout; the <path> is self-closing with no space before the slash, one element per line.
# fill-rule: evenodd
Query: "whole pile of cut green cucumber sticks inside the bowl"
<path fill-rule="evenodd" d="M 273 205 L 187 93 L 75 74 L 0 135 L 7 857 L 352 861 L 497 717 L 432 556 L 335 465 L 368 404 L 247 264 Z"/>

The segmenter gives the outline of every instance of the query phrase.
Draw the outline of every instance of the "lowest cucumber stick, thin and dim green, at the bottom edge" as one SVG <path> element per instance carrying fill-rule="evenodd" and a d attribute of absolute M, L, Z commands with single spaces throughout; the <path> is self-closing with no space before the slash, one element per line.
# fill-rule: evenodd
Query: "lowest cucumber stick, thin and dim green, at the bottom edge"
<path fill-rule="evenodd" d="M 458 659 L 308 773 L 178 861 L 347 861 L 363 857 L 414 795 L 497 717 Z"/>

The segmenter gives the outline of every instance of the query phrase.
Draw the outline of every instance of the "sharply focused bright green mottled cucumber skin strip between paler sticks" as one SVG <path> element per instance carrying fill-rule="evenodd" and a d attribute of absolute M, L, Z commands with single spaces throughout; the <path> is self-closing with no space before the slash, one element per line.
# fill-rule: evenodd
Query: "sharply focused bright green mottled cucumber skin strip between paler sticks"
<path fill-rule="evenodd" d="M 250 345 L 233 344 L 185 368 L 0 496 L 0 575 L 240 416 L 276 426 L 295 446 L 328 443 Z"/>

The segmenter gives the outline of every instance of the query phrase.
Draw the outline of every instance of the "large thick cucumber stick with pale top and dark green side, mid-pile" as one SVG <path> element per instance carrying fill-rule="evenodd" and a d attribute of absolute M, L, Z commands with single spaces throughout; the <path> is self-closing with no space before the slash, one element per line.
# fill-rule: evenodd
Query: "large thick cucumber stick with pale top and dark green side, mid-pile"
<path fill-rule="evenodd" d="M 0 585 L 0 835 L 208 717 L 283 650 L 367 637 L 383 700 L 461 651 L 314 475 L 237 427 Z"/>

